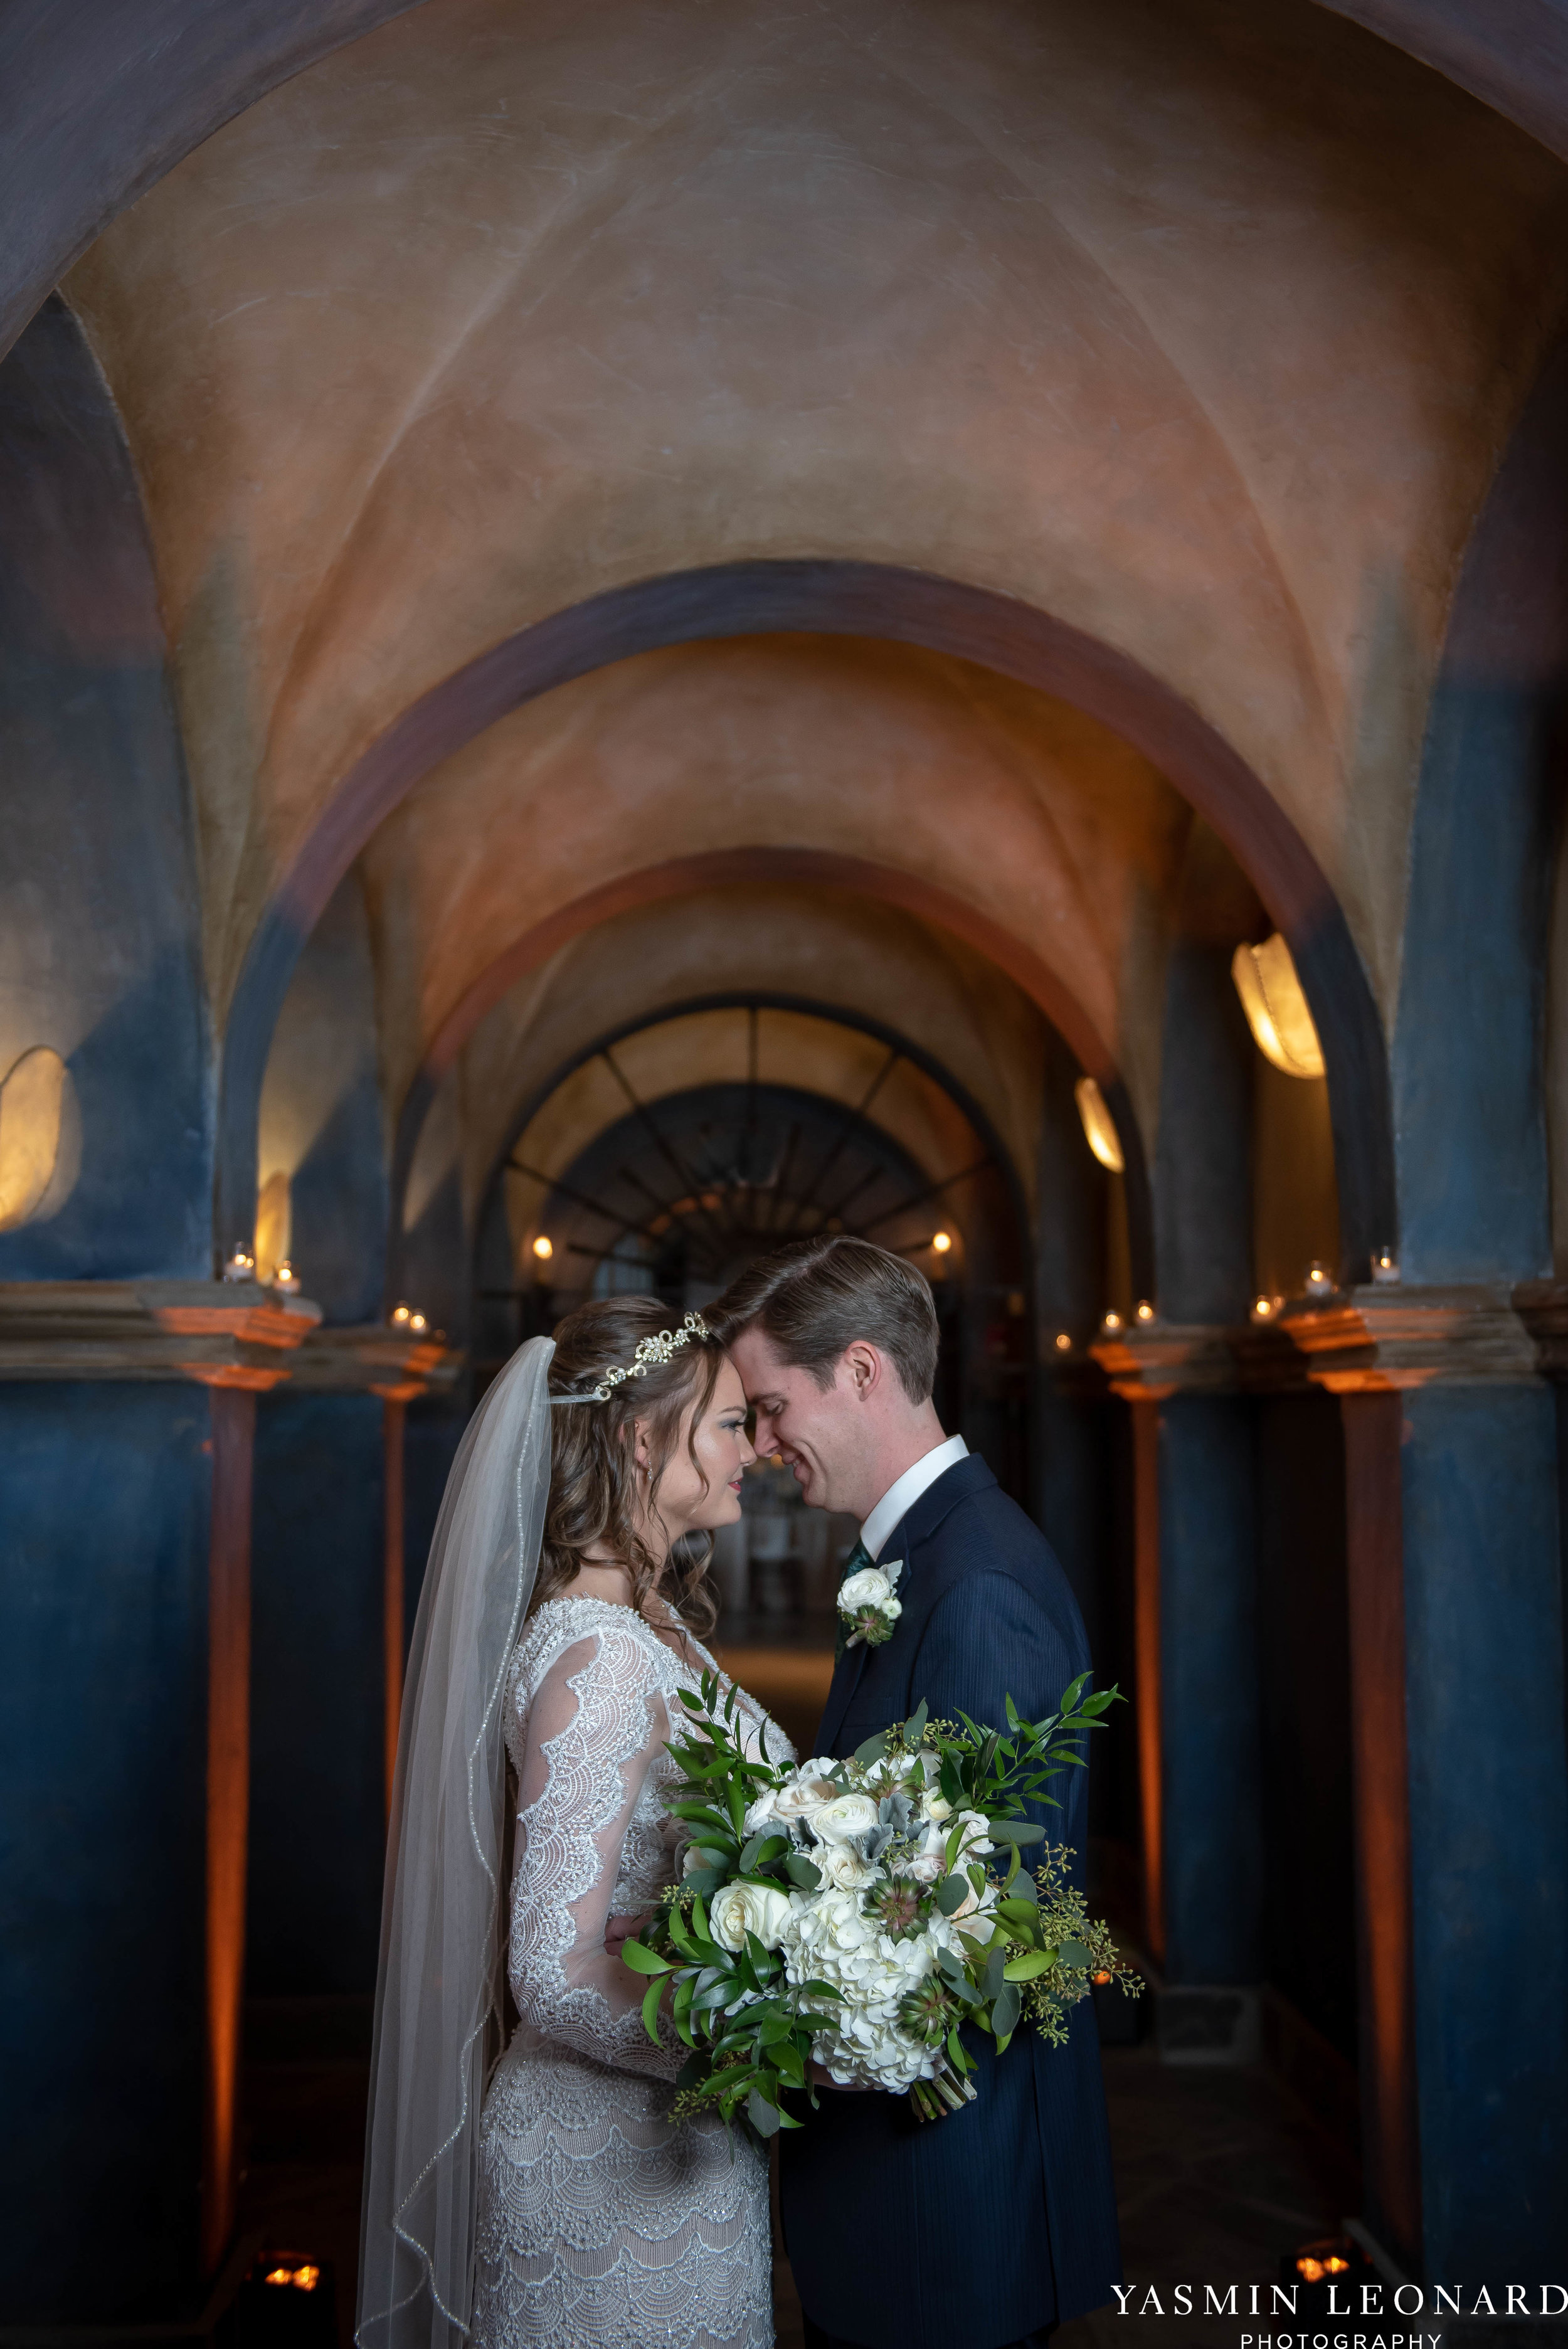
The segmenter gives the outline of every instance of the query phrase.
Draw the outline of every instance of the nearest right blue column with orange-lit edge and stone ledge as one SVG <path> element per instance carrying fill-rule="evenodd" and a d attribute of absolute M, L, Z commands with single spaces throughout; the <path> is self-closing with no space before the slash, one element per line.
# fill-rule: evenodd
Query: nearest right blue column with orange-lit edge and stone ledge
<path fill-rule="evenodd" d="M 1291 1337 L 1347 1433 L 1368 2215 L 1427 2279 L 1540 2279 L 1568 2241 L 1552 1393 L 1500 1287 L 1357 1290 Z"/>

